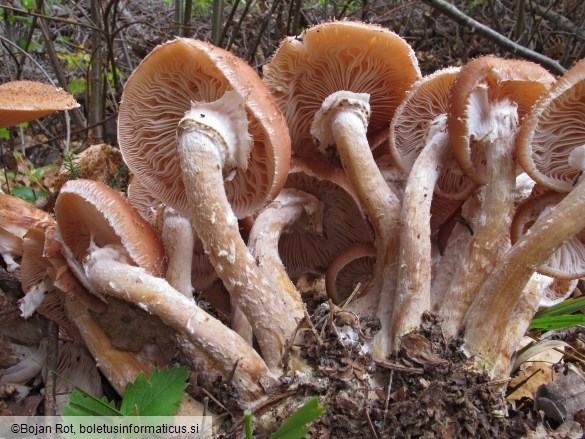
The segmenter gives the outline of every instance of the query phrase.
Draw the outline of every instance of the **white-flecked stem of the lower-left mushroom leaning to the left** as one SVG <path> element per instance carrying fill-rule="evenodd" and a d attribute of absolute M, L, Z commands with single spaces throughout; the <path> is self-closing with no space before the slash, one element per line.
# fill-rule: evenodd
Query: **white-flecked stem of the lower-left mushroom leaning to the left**
<path fill-rule="evenodd" d="M 113 248 L 93 251 L 84 262 L 87 278 L 101 293 L 137 304 L 184 334 L 215 362 L 224 376 L 233 373 L 233 383 L 244 400 L 253 401 L 264 395 L 261 383 L 268 383 L 271 376 L 256 351 L 165 279 L 121 260 L 121 253 Z"/>

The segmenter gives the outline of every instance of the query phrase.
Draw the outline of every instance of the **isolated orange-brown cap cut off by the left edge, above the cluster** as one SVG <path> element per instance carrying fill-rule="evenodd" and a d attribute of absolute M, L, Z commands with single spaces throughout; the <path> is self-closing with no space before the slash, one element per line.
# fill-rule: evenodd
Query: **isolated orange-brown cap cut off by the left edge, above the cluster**
<path fill-rule="evenodd" d="M 73 96 L 52 85 L 35 81 L 0 85 L 0 128 L 76 107 L 79 104 Z"/>

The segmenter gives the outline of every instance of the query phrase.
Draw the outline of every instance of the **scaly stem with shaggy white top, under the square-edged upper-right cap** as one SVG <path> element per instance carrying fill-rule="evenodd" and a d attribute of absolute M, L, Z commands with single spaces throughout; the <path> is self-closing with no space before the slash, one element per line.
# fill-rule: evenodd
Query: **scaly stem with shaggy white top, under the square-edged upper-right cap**
<path fill-rule="evenodd" d="M 516 174 L 512 153 L 518 129 L 516 105 L 508 100 L 489 104 L 486 87 L 478 87 L 473 93 L 484 101 L 482 107 L 489 109 L 486 120 L 482 121 L 485 132 L 480 132 L 483 136 L 477 139 L 485 145 L 488 184 L 479 224 L 439 310 L 443 330 L 450 337 L 459 335 L 467 309 L 499 259 L 502 245 L 508 242 L 514 212 Z"/>

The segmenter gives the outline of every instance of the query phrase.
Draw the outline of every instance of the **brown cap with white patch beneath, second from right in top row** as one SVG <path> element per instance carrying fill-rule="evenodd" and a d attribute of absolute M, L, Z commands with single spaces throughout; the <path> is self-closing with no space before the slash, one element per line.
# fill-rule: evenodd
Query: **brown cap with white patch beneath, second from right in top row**
<path fill-rule="evenodd" d="M 488 101 L 505 99 L 517 105 L 522 120 L 536 100 L 554 83 L 554 76 L 538 64 L 525 60 L 484 56 L 461 68 L 451 88 L 449 107 L 449 139 L 453 156 L 461 169 L 479 184 L 485 184 L 482 152 L 475 148 L 484 135 L 482 115 L 484 102 L 474 99 L 473 91 L 485 84 Z"/>

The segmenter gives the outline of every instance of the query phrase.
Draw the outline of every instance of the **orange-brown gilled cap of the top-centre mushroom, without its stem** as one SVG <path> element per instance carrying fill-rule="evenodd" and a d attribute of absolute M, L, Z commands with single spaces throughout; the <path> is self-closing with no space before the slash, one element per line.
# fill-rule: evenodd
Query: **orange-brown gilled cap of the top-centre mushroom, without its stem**
<path fill-rule="evenodd" d="M 299 155 L 315 149 L 311 122 L 332 93 L 368 93 L 368 135 L 375 136 L 387 130 L 394 110 L 419 77 L 406 41 L 382 27 L 350 21 L 323 23 L 300 38 L 286 38 L 264 66 L 264 82 L 288 121 Z"/>

